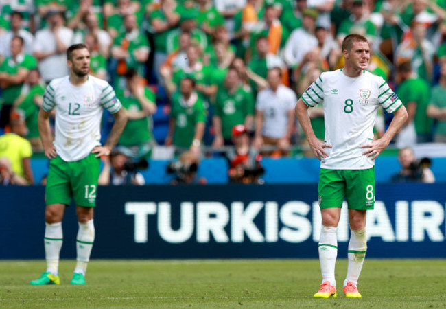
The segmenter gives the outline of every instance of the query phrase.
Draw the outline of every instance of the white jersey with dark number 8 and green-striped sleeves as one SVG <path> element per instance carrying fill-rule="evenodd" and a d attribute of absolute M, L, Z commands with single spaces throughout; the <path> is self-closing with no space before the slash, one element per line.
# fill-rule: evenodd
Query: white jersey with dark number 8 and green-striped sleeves
<path fill-rule="evenodd" d="M 342 69 L 322 73 L 301 98 L 310 107 L 322 103 L 325 143 L 333 148 L 325 148 L 329 157 L 320 167 L 331 170 L 372 168 L 375 161 L 360 147 L 373 140 L 378 106 L 394 113 L 403 105 L 383 78 L 368 71 L 351 78 Z"/>

